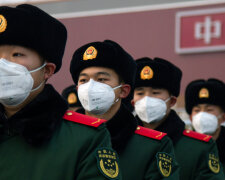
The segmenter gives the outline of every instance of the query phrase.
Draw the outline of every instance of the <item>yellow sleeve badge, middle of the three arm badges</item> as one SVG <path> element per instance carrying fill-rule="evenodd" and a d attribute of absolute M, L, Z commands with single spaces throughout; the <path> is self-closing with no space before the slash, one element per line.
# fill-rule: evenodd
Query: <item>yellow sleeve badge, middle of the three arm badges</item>
<path fill-rule="evenodd" d="M 164 152 L 158 152 L 156 157 L 160 173 L 164 177 L 169 177 L 172 172 L 172 156 Z"/>

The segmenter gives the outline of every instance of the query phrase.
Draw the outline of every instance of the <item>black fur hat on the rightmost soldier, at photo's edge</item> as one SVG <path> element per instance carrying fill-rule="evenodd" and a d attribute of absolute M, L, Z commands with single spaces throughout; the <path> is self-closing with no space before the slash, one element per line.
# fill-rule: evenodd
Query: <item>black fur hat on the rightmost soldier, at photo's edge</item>
<path fill-rule="evenodd" d="M 225 111 L 225 85 L 218 79 L 198 79 L 188 84 L 185 90 L 185 108 L 191 114 L 198 104 L 220 106 Z"/>

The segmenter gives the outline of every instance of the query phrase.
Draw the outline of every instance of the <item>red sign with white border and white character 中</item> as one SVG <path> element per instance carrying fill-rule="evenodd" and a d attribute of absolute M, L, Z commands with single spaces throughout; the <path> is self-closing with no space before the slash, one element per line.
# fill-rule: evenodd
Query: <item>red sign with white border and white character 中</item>
<path fill-rule="evenodd" d="M 176 52 L 225 50 L 225 8 L 176 14 Z"/>

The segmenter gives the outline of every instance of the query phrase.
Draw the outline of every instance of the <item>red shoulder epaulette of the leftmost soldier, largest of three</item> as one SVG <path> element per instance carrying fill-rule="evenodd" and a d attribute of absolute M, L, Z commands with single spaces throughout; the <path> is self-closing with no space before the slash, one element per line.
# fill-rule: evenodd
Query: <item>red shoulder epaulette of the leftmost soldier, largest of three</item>
<path fill-rule="evenodd" d="M 83 114 L 76 113 L 74 111 L 66 111 L 63 116 L 63 119 L 68 121 L 73 121 L 80 124 L 85 124 L 88 126 L 98 127 L 102 123 L 106 122 L 104 119 L 98 119 L 90 116 L 86 116 Z"/>

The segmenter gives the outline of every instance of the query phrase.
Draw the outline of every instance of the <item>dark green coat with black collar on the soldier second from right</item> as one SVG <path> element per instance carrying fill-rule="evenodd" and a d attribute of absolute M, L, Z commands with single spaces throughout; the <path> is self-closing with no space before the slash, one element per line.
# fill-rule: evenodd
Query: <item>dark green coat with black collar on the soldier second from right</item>
<path fill-rule="evenodd" d="M 157 130 L 167 133 L 173 141 L 181 180 L 225 179 L 216 143 L 210 136 L 184 130 L 183 121 L 173 110 Z M 214 168 L 210 165 L 212 160 L 215 160 Z"/>

